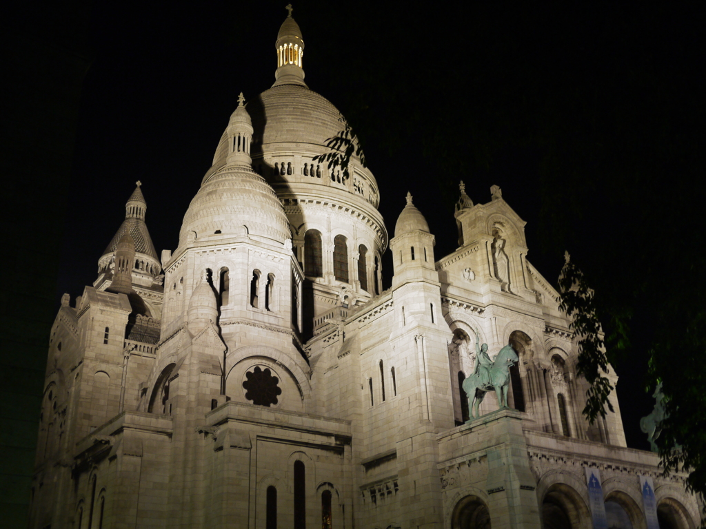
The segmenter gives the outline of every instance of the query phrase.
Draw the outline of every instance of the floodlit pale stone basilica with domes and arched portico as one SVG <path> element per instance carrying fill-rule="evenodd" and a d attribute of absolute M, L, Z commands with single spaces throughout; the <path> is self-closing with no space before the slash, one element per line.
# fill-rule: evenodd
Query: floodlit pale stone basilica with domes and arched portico
<path fill-rule="evenodd" d="M 409 193 L 388 231 L 359 157 L 322 161 L 345 121 L 304 82 L 291 12 L 275 44 L 178 247 L 155 250 L 138 182 L 95 281 L 64 295 L 30 526 L 698 527 L 685 476 L 626 447 L 615 394 L 582 417 L 578 338 L 502 190 L 461 184 L 450 255 Z M 464 383 L 506 346 L 507 406 L 489 391 L 474 413 Z"/>

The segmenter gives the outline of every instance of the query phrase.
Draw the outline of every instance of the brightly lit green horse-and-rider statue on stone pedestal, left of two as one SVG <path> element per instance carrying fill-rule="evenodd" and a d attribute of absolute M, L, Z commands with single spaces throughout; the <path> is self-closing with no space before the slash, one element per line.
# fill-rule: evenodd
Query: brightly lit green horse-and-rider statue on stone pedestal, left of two
<path fill-rule="evenodd" d="M 482 349 L 476 347 L 478 353 L 477 361 L 481 364 L 484 363 L 480 360 L 481 355 L 485 353 L 488 348 L 485 343 L 483 346 Z M 485 356 L 487 358 L 487 354 L 485 354 Z M 512 346 L 505 346 L 495 357 L 493 363 L 489 365 L 487 376 L 482 376 L 481 372 L 479 372 L 479 366 L 477 365 L 476 372 L 463 381 L 463 391 L 466 392 L 468 397 L 469 420 L 479 417 L 478 406 L 483 401 L 488 391 L 495 391 L 501 409 L 508 408 L 510 366 L 517 363 L 518 360 L 519 358 L 517 357 L 517 353 L 515 353 L 515 349 L 513 349 Z M 482 370 L 484 367 L 481 366 L 480 369 Z"/>

